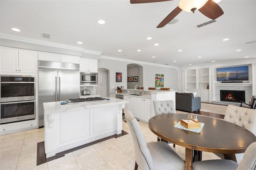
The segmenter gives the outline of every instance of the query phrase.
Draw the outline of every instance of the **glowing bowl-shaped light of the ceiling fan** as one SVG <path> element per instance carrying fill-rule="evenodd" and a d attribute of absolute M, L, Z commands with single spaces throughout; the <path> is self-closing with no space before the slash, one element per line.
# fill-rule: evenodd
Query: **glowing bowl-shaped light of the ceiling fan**
<path fill-rule="evenodd" d="M 186 12 L 192 12 L 192 8 L 196 8 L 195 11 L 199 10 L 206 4 L 208 0 L 180 0 L 179 8 Z"/>

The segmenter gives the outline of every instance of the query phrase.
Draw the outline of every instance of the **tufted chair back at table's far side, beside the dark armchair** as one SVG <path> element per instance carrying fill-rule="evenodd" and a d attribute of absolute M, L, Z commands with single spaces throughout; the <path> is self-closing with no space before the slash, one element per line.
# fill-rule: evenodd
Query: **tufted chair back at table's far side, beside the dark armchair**
<path fill-rule="evenodd" d="M 173 100 L 154 100 L 153 105 L 155 109 L 155 115 L 176 113 Z"/>

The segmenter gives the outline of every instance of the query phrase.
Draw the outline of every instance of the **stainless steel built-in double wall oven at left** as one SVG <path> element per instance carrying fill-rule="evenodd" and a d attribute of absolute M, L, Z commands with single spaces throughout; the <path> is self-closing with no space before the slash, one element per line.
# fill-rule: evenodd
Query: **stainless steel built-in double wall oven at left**
<path fill-rule="evenodd" d="M 35 76 L 0 75 L 0 77 L 0 123 L 35 119 Z"/>

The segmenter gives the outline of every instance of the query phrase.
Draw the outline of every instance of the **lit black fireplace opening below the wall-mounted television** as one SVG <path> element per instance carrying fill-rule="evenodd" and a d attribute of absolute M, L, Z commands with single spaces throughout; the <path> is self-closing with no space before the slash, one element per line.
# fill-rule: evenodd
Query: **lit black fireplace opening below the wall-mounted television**
<path fill-rule="evenodd" d="M 245 102 L 245 91 L 240 90 L 220 90 L 220 101 Z"/>

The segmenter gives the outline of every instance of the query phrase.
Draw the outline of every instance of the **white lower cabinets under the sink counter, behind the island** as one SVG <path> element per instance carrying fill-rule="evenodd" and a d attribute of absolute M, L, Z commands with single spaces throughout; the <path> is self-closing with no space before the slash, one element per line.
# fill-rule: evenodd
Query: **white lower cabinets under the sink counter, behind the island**
<path fill-rule="evenodd" d="M 151 99 L 124 96 L 124 100 L 129 102 L 124 109 L 130 110 L 137 119 L 148 122 L 151 118 Z"/>

